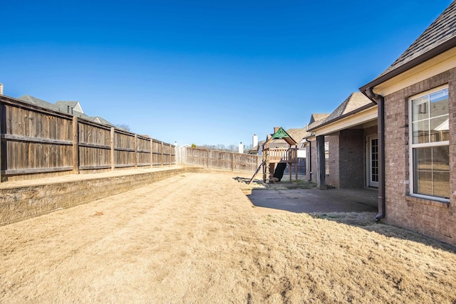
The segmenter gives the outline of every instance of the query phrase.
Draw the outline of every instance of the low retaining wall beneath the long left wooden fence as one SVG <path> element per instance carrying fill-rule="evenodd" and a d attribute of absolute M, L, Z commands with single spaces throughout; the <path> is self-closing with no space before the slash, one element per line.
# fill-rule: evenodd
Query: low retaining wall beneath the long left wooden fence
<path fill-rule="evenodd" d="M 180 167 L 155 172 L 140 172 L 111 177 L 49 182 L 0 189 L 0 225 L 23 221 L 58 209 L 127 192 L 185 172 L 199 172 L 199 167 Z"/>

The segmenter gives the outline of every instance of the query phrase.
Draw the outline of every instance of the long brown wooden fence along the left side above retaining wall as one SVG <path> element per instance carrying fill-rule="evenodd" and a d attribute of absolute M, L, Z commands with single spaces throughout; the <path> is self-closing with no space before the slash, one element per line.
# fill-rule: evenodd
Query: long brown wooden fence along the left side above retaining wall
<path fill-rule="evenodd" d="M 0 95 L 0 182 L 175 164 L 175 146 Z"/>

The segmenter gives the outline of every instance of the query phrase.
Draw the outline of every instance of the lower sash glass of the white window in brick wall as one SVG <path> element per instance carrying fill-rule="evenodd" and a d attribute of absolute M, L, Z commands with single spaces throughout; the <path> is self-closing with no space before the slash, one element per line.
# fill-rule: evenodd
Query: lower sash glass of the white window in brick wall
<path fill-rule="evenodd" d="M 450 197 L 449 147 L 413 149 L 413 192 Z"/>

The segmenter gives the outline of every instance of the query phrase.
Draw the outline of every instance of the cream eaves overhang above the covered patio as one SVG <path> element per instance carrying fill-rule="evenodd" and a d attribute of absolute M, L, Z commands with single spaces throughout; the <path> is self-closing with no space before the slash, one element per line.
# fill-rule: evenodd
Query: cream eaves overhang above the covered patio
<path fill-rule="evenodd" d="M 310 129 L 309 132 L 314 132 L 315 136 L 330 135 L 334 132 L 351 129 L 358 125 L 363 125 L 366 122 L 377 120 L 377 117 L 377 105 L 370 103 L 354 111 L 341 115 L 336 119 L 323 122 L 323 124 Z"/>

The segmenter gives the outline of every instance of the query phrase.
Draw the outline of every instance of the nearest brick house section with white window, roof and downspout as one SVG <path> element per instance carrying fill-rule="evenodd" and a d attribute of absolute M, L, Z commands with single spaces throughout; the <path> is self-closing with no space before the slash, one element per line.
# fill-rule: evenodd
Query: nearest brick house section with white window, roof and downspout
<path fill-rule="evenodd" d="M 456 244 L 456 2 L 360 91 L 378 108 L 376 219 Z"/>

